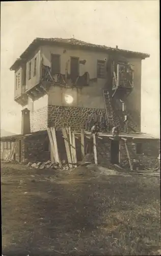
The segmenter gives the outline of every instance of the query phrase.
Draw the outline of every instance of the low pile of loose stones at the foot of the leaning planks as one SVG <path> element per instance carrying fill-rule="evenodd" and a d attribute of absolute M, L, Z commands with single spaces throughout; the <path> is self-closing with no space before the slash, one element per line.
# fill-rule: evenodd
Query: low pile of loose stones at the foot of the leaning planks
<path fill-rule="evenodd" d="M 31 163 L 29 162 L 27 164 L 29 168 L 35 168 L 35 169 L 45 169 L 45 168 L 50 168 L 50 169 L 63 169 L 63 170 L 69 170 L 68 164 L 63 162 L 62 166 L 59 165 L 58 162 L 55 161 L 46 161 L 46 162 L 37 162 L 37 163 Z"/>

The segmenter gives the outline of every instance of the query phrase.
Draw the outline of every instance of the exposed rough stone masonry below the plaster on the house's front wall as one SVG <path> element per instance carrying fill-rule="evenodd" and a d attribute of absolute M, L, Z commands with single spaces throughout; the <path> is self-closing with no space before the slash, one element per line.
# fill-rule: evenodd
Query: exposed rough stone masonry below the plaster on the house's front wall
<path fill-rule="evenodd" d="M 78 108 L 73 106 L 53 106 L 48 105 L 48 126 L 71 127 L 72 130 L 80 131 L 81 127 L 85 128 L 85 120 L 95 114 L 102 115 L 104 109 Z"/>

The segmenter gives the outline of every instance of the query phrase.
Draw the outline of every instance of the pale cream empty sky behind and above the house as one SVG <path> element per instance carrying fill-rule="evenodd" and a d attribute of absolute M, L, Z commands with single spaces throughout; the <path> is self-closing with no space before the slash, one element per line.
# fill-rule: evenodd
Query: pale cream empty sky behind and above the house
<path fill-rule="evenodd" d="M 159 1 L 1 2 L 1 128 L 20 133 L 9 68 L 36 37 L 73 37 L 149 53 L 142 61 L 142 132 L 160 134 Z"/>

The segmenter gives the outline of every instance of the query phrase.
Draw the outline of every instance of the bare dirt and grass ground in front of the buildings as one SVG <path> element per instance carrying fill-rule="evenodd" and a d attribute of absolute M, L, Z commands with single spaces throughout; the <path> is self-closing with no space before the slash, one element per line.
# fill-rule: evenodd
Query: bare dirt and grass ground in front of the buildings
<path fill-rule="evenodd" d="M 92 168 L 1 163 L 3 254 L 160 255 L 160 177 Z"/>

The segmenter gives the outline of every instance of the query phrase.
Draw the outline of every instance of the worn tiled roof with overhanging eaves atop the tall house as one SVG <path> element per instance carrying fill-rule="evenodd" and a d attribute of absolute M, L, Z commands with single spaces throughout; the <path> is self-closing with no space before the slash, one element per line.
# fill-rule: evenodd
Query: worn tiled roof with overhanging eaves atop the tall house
<path fill-rule="evenodd" d="M 89 42 L 85 42 L 82 40 L 78 40 L 75 38 L 40 38 L 37 37 L 36 39 L 33 40 L 33 42 L 29 45 L 29 47 L 20 55 L 20 58 L 18 58 L 10 70 L 14 70 L 14 67 L 20 64 L 20 62 L 28 56 L 30 52 L 35 50 L 37 47 L 40 45 L 45 45 L 45 44 L 55 44 L 55 45 L 62 45 L 62 46 L 73 46 L 76 48 L 82 48 L 82 49 L 88 49 L 88 50 L 95 50 L 97 52 L 103 51 L 106 53 L 113 53 L 113 52 L 118 52 L 122 53 L 123 55 L 131 55 L 133 57 L 140 57 L 142 59 L 149 57 L 150 55 L 147 53 L 141 53 L 141 52 L 134 52 L 134 51 L 128 51 L 128 50 L 122 50 L 118 48 L 113 48 L 113 47 L 108 47 L 108 46 L 101 46 L 101 45 L 94 45 Z"/>

